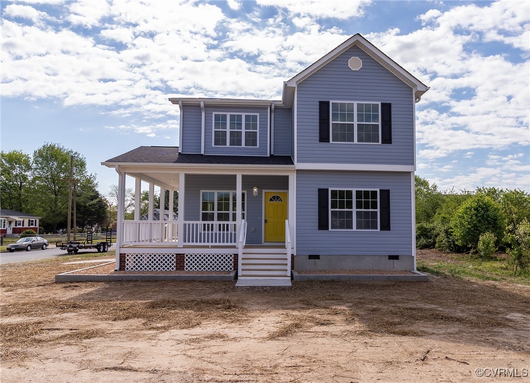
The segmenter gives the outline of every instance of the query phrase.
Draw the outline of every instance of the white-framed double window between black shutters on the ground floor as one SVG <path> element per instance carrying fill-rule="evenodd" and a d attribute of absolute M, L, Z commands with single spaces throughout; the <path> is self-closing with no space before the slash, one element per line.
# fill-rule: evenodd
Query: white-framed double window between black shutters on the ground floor
<path fill-rule="evenodd" d="M 330 230 L 379 230 L 378 189 L 330 189 Z"/>

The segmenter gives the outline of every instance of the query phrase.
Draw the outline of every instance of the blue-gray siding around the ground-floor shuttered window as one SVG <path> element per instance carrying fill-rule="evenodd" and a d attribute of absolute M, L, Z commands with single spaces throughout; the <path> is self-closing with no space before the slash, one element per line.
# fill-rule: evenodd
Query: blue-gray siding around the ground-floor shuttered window
<path fill-rule="evenodd" d="M 318 189 L 390 189 L 390 231 L 319 230 Z M 411 173 L 296 172 L 296 254 L 411 255 Z"/>

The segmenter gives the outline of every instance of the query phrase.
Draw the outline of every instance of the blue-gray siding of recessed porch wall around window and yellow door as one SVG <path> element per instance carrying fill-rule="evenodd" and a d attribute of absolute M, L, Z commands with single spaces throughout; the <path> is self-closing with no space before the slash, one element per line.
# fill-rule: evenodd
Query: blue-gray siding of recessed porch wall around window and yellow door
<path fill-rule="evenodd" d="M 285 190 L 289 187 L 288 176 L 243 175 L 242 189 L 246 191 L 245 220 L 247 222 L 246 243 L 261 245 L 263 241 L 263 189 Z M 187 174 L 185 186 L 184 220 L 200 220 L 201 190 L 235 191 L 235 175 Z M 258 197 L 252 195 L 257 186 Z M 254 232 L 252 232 L 254 228 Z"/>

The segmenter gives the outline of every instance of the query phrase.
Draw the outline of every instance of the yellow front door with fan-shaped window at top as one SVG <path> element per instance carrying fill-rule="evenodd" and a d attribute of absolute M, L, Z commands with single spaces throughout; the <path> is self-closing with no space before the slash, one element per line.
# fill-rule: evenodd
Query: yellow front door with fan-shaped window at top
<path fill-rule="evenodd" d="M 265 192 L 265 242 L 285 242 L 287 193 Z"/>

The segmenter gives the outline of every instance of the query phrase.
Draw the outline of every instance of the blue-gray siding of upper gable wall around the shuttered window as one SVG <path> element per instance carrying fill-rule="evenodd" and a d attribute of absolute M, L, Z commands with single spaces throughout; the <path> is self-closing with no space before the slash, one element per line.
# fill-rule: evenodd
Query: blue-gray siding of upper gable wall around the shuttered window
<path fill-rule="evenodd" d="M 348 59 L 359 57 L 355 72 Z M 319 101 L 392 104 L 392 144 L 319 142 Z M 297 161 L 306 163 L 414 164 L 412 89 L 358 47 L 352 47 L 297 86 Z"/>

